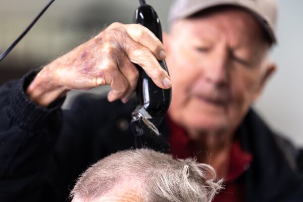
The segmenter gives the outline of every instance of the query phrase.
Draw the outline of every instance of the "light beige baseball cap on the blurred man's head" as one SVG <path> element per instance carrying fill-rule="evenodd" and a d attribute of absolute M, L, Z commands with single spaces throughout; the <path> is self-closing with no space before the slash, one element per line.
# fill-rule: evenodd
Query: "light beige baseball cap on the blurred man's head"
<path fill-rule="evenodd" d="M 250 12 L 267 31 L 272 42 L 277 42 L 275 24 L 278 8 L 276 0 L 176 0 L 170 8 L 169 23 L 206 9 L 225 5 L 236 6 Z"/>

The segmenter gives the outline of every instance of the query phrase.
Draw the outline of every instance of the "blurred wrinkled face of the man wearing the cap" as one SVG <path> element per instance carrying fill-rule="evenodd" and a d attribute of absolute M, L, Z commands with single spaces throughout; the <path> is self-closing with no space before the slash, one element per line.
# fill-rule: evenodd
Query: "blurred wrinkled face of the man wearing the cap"
<path fill-rule="evenodd" d="M 189 130 L 237 127 L 273 70 L 257 21 L 240 9 L 222 10 L 175 22 L 166 39 L 171 118 Z"/>

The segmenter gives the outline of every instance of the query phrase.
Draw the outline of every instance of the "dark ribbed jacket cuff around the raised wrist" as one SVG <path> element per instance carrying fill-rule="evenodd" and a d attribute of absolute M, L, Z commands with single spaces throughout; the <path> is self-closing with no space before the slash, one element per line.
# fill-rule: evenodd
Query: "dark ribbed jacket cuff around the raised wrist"
<path fill-rule="evenodd" d="M 24 75 L 7 96 L 8 114 L 20 128 L 33 130 L 44 125 L 45 120 L 61 109 L 65 98 L 61 98 L 52 107 L 44 108 L 33 103 L 26 95 L 25 89 L 37 75 L 39 70 L 32 70 Z"/>

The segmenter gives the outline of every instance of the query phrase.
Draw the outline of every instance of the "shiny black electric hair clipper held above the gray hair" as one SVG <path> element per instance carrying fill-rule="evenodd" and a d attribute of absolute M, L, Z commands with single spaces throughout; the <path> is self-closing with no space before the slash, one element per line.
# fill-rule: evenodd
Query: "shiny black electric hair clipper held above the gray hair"
<path fill-rule="evenodd" d="M 141 6 L 136 10 L 133 22 L 147 27 L 162 41 L 162 28 L 159 17 L 153 7 L 140 1 Z M 159 61 L 161 67 L 168 72 L 165 61 Z M 151 148 L 168 152 L 170 145 L 158 127 L 168 111 L 171 102 L 171 88 L 162 89 L 156 86 L 142 68 L 136 88 L 137 107 L 132 113 L 131 127 L 135 135 L 137 148 Z"/>

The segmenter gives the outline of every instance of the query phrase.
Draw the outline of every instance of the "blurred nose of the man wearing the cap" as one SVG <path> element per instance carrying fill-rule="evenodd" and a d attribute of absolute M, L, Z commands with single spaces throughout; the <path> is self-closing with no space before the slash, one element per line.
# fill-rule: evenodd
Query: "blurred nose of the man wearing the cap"
<path fill-rule="evenodd" d="M 218 87 L 227 86 L 229 82 L 229 72 L 227 69 L 228 50 L 217 48 L 207 59 L 208 62 L 204 69 L 204 76 L 208 83 Z"/>

